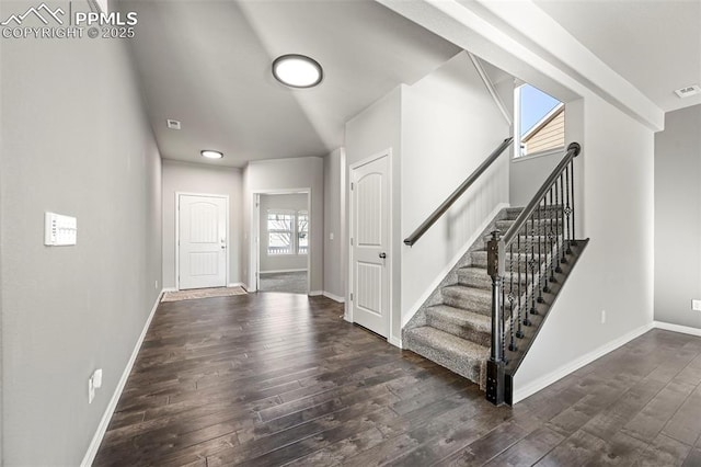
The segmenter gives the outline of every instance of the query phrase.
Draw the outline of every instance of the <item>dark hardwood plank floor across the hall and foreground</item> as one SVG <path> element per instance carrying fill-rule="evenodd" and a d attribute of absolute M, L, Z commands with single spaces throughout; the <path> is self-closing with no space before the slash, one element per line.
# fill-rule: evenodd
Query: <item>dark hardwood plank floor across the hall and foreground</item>
<path fill-rule="evenodd" d="M 701 466 L 701 339 L 651 331 L 514 408 L 326 298 L 161 304 L 96 466 Z"/>

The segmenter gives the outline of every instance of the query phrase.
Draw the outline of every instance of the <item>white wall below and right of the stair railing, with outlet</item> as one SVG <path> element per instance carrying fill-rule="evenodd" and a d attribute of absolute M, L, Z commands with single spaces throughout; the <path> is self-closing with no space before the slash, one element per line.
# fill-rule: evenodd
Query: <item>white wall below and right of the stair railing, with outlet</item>
<path fill-rule="evenodd" d="M 517 392 L 653 320 L 653 133 L 595 95 L 584 122 L 578 208 L 590 242 L 516 374 Z"/>

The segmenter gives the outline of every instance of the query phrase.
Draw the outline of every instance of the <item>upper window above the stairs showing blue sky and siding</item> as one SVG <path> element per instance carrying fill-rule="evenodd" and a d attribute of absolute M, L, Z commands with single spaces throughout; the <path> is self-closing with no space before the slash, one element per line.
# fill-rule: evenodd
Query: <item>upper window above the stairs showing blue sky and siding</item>
<path fill-rule="evenodd" d="M 516 155 L 532 156 L 565 146 L 565 104 L 530 84 L 516 88 Z"/>

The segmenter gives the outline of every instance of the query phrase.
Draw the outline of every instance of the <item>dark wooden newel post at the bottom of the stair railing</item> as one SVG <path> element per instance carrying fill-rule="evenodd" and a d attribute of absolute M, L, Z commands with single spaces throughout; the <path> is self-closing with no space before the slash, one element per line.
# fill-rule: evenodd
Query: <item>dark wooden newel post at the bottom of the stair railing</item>
<path fill-rule="evenodd" d="M 504 321 L 502 320 L 502 277 L 504 276 L 504 242 L 494 230 L 486 247 L 486 272 L 492 277 L 492 352 L 486 364 L 486 400 L 504 403 Z"/>

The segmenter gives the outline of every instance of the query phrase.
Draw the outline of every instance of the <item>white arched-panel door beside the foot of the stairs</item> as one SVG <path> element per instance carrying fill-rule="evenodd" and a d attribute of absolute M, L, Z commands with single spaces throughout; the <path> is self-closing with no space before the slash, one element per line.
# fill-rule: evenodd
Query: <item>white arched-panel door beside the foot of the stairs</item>
<path fill-rule="evenodd" d="M 350 175 L 353 321 L 383 337 L 390 312 L 388 159 L 375 159 Z"/>

